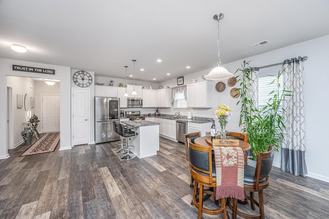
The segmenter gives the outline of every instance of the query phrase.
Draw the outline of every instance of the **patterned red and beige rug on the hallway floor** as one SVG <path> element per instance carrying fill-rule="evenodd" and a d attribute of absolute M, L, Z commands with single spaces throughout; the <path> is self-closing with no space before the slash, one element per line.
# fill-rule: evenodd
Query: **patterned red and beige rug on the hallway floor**
<path fill-rule="evenodd" d="M 20 156 L 53 152 L 56 150 L 59 142 L 60 142 L 59 132 L 45 133 L 44 135 L 42 135 L 41 138 L 39 138 L 38 141 L 36 141 Z"/>

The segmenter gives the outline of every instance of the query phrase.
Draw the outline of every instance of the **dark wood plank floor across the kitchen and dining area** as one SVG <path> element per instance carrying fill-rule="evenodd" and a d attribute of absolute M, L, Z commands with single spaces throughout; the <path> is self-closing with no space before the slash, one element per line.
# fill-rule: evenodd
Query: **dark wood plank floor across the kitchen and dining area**
<path fill-rule="evenodd" d="M 27 147 L 0 161 L 0 218 L 197 218 L 180 143 L 131 161 L 115 142 L 19 157 Z M 273 168 L 264 196 L 266 218 L 329 218 L 328 183 Z"/>

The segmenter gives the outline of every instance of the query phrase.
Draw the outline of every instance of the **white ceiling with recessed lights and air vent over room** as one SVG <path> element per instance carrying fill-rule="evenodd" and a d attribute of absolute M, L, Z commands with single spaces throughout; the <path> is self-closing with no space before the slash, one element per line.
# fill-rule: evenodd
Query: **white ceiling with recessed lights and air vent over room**
<path fill-rule="evenodd" d="M 0 0 L 0 57 L 167 81 L 216 65 L 220 12 L 222 64 L 329 34 L 327 0 Z"/>

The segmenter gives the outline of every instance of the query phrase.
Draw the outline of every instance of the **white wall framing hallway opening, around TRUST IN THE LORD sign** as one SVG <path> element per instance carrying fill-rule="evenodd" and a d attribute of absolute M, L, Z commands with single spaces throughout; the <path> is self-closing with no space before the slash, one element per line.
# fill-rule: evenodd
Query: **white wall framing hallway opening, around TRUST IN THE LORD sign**
<path fill-rule="evenodd" d="M 30 66 L 37 68 L 46 68 L 54 69 L 55 74 L 41 74 L 41 73 L 32 73 L 32 72 L 21 72 L 13 71 L 12 65 L 21 65 L 21 66 Z M 50 79 L 59 79 L 60 92 L 61 92 L 61 118 L 60 118 L 60 130 L 61 130 L 61 142 L 60 150 L 70 149 L 71 148 L 71 124 L 70 124 L 70 68 L 63 66 L 54 66 L 41 63 L 32 63 L 17 61 L 13 59 L 4 59 L 0 58 L 0 99 L 7 98 L 7 80 L 6 75 L 11 76 L 24 76 L 24 77 L 45 77 Z M 0 159 L 6 158 L 9 156 L 6 148 L 6 107 L 0 108 L 0 121 L 3 121 L 0 124 Z"/>

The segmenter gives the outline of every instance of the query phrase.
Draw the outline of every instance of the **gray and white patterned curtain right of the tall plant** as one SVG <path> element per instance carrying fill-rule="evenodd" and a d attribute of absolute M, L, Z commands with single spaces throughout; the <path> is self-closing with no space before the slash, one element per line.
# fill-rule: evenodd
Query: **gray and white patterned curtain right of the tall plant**
<path fill-rule="evenodd" d="M 281 170 L 305 177 L 304 64 L 302 57 L 283 62 L 283 83 L 291 96 L 285 96 L 283 118 L 286 126 L 282 144 Z"/>

